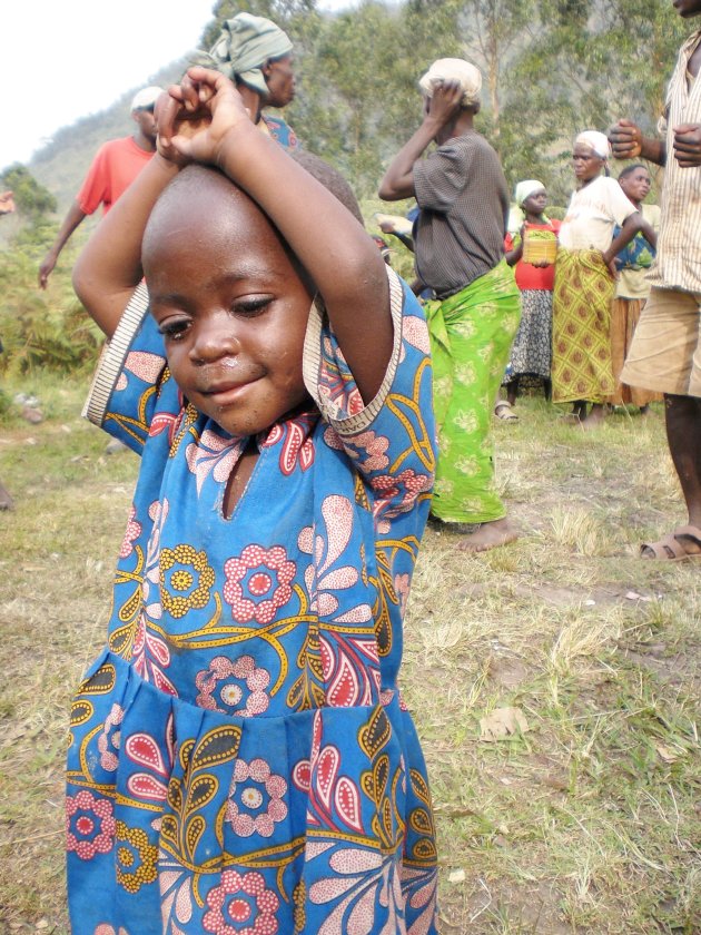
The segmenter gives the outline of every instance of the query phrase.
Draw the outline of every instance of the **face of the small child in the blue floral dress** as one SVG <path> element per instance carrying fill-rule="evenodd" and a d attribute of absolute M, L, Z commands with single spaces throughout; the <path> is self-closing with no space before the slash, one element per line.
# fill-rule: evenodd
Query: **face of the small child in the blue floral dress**
<path fill-rule="evenodd" d="M 308 398 L 302 352 L 312 294 L 258 207 L 226 179 L 214 181 L 156 209 L 144 270 L 187 400 L 231 435 L 254 435 Z"/>

